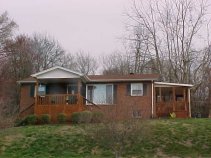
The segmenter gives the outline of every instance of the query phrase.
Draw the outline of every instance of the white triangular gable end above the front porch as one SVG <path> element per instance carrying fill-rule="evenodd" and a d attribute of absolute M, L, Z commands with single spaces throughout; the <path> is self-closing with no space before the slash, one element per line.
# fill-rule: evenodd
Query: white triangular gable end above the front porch
<path fill-rule="evenodd" d="M 51 79 L 51 78 L 80 78 L 82 74 L 77 72 L 61 68 L 54 67 L 36 74 L 31 75 L 32 77 L 36 77 L 37 79 Z"/>

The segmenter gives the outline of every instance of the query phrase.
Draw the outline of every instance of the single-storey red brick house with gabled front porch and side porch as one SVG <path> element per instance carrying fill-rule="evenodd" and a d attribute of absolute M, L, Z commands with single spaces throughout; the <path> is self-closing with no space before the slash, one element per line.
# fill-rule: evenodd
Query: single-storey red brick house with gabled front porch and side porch
<path fill-rule="evenodd" d="M 20 116 L 98 110 L 116 119 L 190 117 L 192 85 L 157 82 L 158 74 L 83 75 L 53 67 L 18 81 Z"/>

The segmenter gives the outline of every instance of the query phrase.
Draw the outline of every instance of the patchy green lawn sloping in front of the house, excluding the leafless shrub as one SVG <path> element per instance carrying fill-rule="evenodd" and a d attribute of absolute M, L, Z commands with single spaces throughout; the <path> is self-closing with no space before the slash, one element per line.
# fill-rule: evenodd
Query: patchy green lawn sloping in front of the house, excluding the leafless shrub
<path fill-rule="evenodd" d="M 211 119 L 148 121 L 150 135 L 125 147 L 123 157 L 211 157 Z M 89 132 L 98 124 L 14 127 L 0 131 L 1 158 L 114 157 Z M 88 132 L 89 131 L 89 132 Z"/>

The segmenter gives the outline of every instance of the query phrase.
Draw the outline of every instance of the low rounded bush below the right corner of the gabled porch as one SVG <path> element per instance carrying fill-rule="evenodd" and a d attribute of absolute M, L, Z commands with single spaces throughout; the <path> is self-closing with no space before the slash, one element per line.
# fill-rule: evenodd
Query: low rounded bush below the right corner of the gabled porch
<path fill-rule="evenodd" d="M 71 121 L 72 123 L 90 123 L 92 121 L 92 112 L 74 112 L 71 116 Z"/>

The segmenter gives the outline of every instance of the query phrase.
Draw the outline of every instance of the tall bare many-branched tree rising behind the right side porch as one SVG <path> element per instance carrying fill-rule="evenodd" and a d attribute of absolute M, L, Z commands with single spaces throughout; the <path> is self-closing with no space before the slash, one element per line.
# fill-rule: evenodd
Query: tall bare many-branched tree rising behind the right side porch
<path fill-rule="evenodd" d="M 163 80 L 192 82 L 193 69 L 201 66 L 195 64 L 196 59 L 205 59 L 194 46 L 194 38 L 204 24 L 206 7 L 204 1 L 134 1 L 128 14 L 132 28 L 146 32 L 139 31 L 134 40 L 144 41 Z"/>

